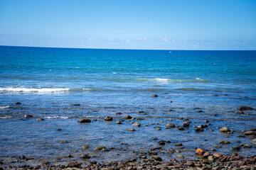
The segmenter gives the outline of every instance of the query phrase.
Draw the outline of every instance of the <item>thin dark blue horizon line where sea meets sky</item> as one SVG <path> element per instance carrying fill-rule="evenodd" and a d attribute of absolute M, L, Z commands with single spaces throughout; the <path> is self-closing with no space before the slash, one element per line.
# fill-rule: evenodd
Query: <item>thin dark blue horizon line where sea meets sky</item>
<path fill-rule="evenodd" d="M 88 50 L 163 50 L 171 49 L 129 49 L 129 48 L 87 48 L 87 47 L 42 47 L 42 46 L 23 46 L 23 45 L 0 45 L 0 47 L 38 47 L 38 48 L 66 48 L 66 49 L 88 49 Z M 173 49 L 174 50 L 174 49 Z M 182 51 L 181 49 L 174 51 Z M 256 51 L 256 50 L 183 50 L 183 51 Z"/>

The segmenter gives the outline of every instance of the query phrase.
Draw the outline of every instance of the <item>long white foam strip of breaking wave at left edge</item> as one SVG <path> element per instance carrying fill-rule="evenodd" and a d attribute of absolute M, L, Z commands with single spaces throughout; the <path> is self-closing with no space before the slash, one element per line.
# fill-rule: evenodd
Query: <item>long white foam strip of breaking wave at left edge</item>
<path fill-rule="evenodd" d="M 0 88 L 1 92 L 38 92 L 38 93 L 53 93 L 53 92 L 63 92 L 69 91 L 68 88 L 55 88 L 55 89 L 48 89 L 48 88 Z"/>

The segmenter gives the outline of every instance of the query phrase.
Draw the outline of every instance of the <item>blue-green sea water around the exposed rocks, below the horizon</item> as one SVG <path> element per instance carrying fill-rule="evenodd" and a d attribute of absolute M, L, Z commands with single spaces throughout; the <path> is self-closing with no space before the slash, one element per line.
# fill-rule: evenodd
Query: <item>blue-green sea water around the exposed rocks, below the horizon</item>
<path fill-rule="evenodd" d="M 196 147 L 230 154 L 232 147 L 250 145 L 254 138 L 237 137 L 241 130 L 256 128 L 256 112 L 240 114 L 238 106 L 256 108 L 256 51 L 0 46 L 2 160 L 21 155 L 59 160 L 68 154 L 79 159 L 86 153 L 97 162 L 109 162 L 156 147 L 163 148 L 159 154 L 164 161 L 176 157 L 168 149 L 180 149 L 186 159 L 195 158 Z M 114 120 L 106 122 L 107 115 Z M 126 115 L 142 120 L 125 120 Z M 80 118 L 92 122 L 78 123 Z M 115 124 L 117 120 L 123 124 Z M 185 130 L 165 128 L 188 120 Z M 133 127 L 134 122 L 142 126 Z M 195 132 L 198 125 L 208 128 Z M 233 134 L 219 132 L 223 126 Z M 171 143 L 159 146 L 160 140 Z M 220 145 L 220 140 L 231 143 Z M 183 147 L 175 147 L 176 142 Z M 98 146 L 110 151 L 95 151 Z M 250 156 L 255 148 L 242 148 L 239 154 Z"/>

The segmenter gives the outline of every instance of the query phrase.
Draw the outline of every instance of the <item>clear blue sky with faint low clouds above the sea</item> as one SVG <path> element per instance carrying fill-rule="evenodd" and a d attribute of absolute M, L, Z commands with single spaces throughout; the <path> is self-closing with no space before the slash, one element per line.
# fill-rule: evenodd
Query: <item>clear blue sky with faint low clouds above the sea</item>
<path fill-rule="evenodd" d="M 0 0 L 0 45 L 256 50 L 256 1 Z"/>

